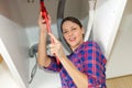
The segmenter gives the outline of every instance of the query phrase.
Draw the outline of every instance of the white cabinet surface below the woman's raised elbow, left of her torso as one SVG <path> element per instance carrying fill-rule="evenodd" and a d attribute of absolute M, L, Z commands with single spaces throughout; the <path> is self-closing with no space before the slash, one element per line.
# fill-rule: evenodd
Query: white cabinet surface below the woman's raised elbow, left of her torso
<path fill-rule="evenodd" d="M 30 72 L 35 65 L 35 58 L 30 58 Z M 61 78 L 57 73 L 48 73 L 37 68 L 34 79 L 30 84 L 30 88 L 61 88 Z"/>

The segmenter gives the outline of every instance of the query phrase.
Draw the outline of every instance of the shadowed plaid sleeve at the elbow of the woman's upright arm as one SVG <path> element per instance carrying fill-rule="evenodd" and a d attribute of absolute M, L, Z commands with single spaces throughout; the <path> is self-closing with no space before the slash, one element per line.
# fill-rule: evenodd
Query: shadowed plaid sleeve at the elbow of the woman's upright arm
<path fill-rule="evenodd" d="M 59 72 L 62 69 L 62 64 L 57 65 L 55 56 L 48 55 L 48 57 L 51 57 L 52 62 L 48 67 L 44 67 L 44 68 L 52 72 Z"/>

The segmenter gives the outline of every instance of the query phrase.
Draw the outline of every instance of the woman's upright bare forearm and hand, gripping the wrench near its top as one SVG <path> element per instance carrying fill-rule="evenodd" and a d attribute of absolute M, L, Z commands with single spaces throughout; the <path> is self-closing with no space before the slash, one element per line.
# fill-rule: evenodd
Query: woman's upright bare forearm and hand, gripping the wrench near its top
<path fill-rule="evenodd" d="M 51 23 L 51 20 L 50 20 Z M 42 19 L 41 14 L 38 16 L 38 25 L 40 25 L 40 40 L 38 40 L 38 51 L 37 51 L 37 63 L 40 66 L 47 67 L 51 64 L 51 58 L 47 57 L 46 53 L 46 24 L 45 20 Z"/>

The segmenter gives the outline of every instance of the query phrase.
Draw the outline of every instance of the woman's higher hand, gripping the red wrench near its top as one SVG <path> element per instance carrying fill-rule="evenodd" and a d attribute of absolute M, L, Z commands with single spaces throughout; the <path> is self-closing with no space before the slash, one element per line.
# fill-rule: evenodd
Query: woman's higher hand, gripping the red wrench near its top
<path fill-rule="evenodd" d="M 51 26 L 52 21 L 51 21 L 51 16 L 48 14 L 47 14 L 47 18 L 48 18 L 48 23 L 50 23 L 50 26 Z M 42 18 L 42 12 L 40 12 L 40 15 L 38 15 L 38 26 L 40 26 L 42 32 L 47 32 L 46 22 Z"/>

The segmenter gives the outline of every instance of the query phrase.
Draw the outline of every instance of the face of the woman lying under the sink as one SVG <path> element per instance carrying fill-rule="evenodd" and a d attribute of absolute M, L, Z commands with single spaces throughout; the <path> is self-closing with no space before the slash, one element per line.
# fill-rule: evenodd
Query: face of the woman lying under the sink
<path fill-rule="evenodd" d="M 63 23 L 63 35 L 72 50 L 76 50 L 82 42 L 84 29 L 72 21 Z"/>

